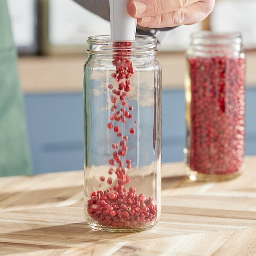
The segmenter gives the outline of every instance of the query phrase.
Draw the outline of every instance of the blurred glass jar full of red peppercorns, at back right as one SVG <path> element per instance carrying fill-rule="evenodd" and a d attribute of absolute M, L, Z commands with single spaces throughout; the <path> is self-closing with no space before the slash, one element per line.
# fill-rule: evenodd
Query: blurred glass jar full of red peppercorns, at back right
<path fill-rule="evenodd" d="M 194 33 L 186 55 L 186 174 L 191 180 L 231 179 L 244 164 L 241 35 Z"/>

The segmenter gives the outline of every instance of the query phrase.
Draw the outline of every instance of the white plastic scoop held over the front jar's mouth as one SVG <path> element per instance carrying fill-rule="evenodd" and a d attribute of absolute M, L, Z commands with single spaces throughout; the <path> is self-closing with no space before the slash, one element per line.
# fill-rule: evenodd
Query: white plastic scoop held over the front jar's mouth
<path fill-rule="evenodd" d="M 126 9 L 129 0 L 109 0 L 111 40 L 134 41 L 137 19 Z"/>

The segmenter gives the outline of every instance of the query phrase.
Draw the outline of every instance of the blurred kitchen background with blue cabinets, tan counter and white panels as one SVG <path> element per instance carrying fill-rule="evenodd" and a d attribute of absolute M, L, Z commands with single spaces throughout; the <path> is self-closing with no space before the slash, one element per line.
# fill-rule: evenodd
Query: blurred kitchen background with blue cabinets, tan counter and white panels
<path fill-rule="evenodd" d="M 34 173 L 83 169 L 83 64 L 86 39 L 110 34 L 110 23 L 72 0 L 7 0 Z M 166 34 L 158 49 L 163 69 L 162 161 L 183 161 L 184 74 L 189 37 L 198 30 L 239 30 L 247 59 L 246 154 L 256 154 L 256 1 L 216 0 L 201 23 Z"/>

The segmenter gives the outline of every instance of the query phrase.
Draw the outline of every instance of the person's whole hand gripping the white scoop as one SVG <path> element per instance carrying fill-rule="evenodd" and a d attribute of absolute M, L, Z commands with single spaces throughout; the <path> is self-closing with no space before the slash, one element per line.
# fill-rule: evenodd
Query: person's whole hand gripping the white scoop
<path fill-rule="evenodd" d="M 127 11 L 140 26 L 163 28 L 204 20 L 214 4 L 215 0 L 130 0 Z"/>

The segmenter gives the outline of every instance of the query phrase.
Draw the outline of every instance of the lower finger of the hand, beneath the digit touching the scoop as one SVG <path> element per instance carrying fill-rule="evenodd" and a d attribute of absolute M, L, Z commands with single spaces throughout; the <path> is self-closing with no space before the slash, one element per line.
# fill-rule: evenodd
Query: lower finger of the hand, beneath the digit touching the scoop
<path fill-rule="evenodd" d="M 140 26 L 150 28 L 194 24 L 204 20 L 204 18 L 206 18 L 212 11 L 213 6 L 214 1 L 199 1 L 174 12 L 154 15 L 152 17 L 142 17 L 138 19 L 137 23 Z"/>

